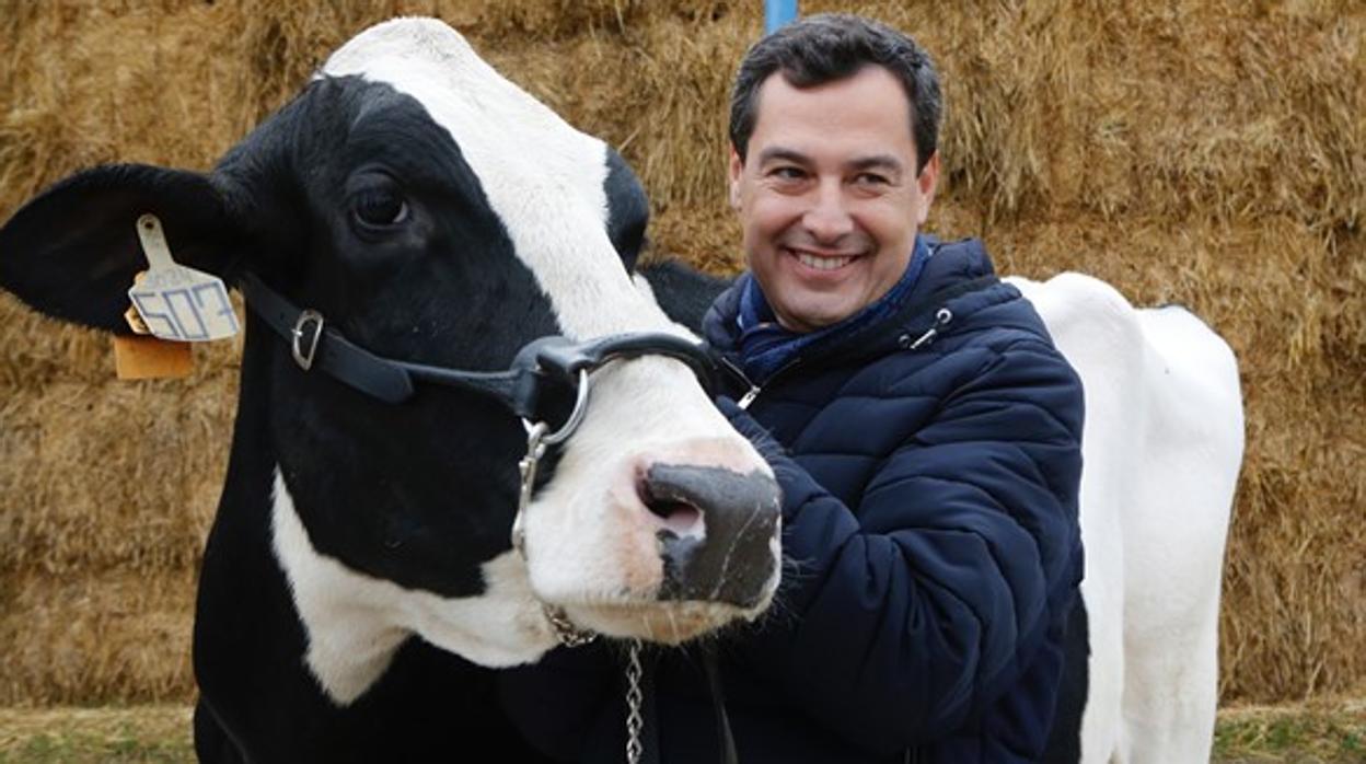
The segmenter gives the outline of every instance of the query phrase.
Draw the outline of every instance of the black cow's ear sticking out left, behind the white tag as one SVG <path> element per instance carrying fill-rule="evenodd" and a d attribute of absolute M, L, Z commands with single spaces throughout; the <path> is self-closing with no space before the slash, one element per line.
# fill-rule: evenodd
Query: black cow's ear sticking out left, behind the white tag
<path fill-rule="evenodd" d="M 127 333 L 128 288 L 148 268 L 134 226 L 149 212 L 176 262 L 224 272 L 238 227 L 209 176 L 117 164 L 67 178 L 0 228 L 0 288 L 49 316 Z"/>

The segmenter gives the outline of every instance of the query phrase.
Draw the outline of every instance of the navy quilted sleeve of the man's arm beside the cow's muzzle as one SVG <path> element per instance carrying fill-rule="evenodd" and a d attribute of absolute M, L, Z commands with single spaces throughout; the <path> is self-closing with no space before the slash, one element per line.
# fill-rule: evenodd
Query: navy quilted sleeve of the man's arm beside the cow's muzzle
<path fill-rule="evenodd" d="M 959 728 L 1012 686 L 1044 642 L 1050 597 L 1079 578 L 1082 394 L 1056 350 L 984 350 L 858 507 L 721 407 L 784 493 L 784 585 L 735 648 L 749 671 L 877 752 Z"/>

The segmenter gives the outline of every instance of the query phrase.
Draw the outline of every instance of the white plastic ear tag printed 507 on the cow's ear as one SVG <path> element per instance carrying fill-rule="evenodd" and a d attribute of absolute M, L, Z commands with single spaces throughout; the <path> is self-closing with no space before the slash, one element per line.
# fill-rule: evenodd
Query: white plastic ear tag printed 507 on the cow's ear
<path fill-rule="evenodd" d="M 238 316 L 223 279 L 178 265 L 156 215 L 138 217 L 138 241 L 150 268 L 128 290 L 128 299 L 153 336 L 209 342 L 238 333 Z"/>

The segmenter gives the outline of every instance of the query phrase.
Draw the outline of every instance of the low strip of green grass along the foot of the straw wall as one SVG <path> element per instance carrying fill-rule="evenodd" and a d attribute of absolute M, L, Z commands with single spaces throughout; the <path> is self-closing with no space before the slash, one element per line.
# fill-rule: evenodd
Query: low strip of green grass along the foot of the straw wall
<path fill-rule="evenodd" d="M 0 708 L 0 764 L 191 761 L 186 707 Z M 1366 764 L 1366 701 L 1221 711 L 1210 761 Z"/>

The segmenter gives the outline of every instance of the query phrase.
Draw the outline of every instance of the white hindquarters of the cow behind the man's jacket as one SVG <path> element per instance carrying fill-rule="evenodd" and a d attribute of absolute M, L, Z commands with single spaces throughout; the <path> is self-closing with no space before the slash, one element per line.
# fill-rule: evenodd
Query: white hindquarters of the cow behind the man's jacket
<path fill-rule="evenodd" d="M 1220 570 L 1243 454 L 1238 364 L 1180 309 L 1104 282 L 1008 279 L 1082 377 L 1082 761 L 1203 761 L 1217 701 Z"/>

